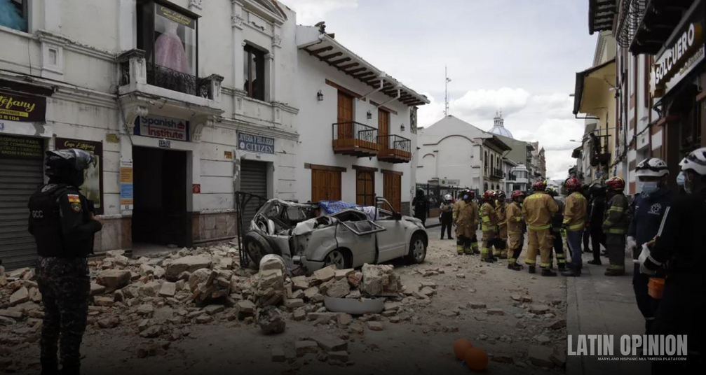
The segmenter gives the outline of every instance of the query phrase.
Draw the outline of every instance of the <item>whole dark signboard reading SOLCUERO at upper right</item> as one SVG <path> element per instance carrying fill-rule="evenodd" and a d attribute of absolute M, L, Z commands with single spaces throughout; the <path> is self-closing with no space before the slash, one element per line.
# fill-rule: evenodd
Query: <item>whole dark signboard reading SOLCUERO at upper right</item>
<path fill-rule="evenodd" d="M 698 63 L 703 61 L 704 52 L 701 24 L 691 23 L 652 66 L 652 85 L 655 96 L 662 96 L 671 90 Z"/>

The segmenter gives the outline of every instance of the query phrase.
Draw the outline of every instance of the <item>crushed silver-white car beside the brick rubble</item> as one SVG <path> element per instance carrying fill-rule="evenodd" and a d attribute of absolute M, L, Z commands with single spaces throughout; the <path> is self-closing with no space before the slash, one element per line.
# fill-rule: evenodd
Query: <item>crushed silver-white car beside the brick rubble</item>
<path fill-rule="evenodd" d="M 421 221 L 397 213 L 383 198 L 376 199 L 376 207 L 330 215 L 318 204 L 270 199 L 243 238 L 244 250 L 256 266 L 265 254 L 277 254 L 290 273 L 297 268 L 311 273 L 330 265 L 355 268 L 400 257 L 419 264 L 428 244 Z"/>

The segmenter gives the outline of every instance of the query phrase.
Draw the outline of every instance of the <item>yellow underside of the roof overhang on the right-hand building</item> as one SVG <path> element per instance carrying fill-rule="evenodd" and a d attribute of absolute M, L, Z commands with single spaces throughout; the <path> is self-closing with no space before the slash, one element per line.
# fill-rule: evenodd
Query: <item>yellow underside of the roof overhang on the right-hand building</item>
<path fill-rule="evenodd" d="M 573 113 L 593 113 L 595 109 L 605 108 L 606 95 L 610 94 L 615 81 L 615 59 L 576 73 Z"/>

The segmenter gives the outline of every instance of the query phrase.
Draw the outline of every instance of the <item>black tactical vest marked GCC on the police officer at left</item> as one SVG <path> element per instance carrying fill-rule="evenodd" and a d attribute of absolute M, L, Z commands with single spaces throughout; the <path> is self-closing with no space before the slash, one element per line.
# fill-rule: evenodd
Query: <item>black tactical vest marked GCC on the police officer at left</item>
<path fill-rule="evenodd" d="M 78 194 L 76 188 L 71 185 L 47 184 L 42 185 L 30 197 L 29 224 L 40 257 L 86 257 L 92 250 L 92 241 L 81 243 L 85 241 L 64 238 L 59 199 L 66 192 Z"/>

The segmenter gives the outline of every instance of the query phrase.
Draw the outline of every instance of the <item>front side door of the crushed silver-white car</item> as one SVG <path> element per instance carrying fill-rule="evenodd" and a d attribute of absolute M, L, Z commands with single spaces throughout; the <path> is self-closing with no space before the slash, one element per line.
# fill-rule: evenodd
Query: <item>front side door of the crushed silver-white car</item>
<path fill-rule="evenodd" d="M 384 207 L 384 208 L 381 208 Z M 405 225 L 401 216 L 395 212 L 390 203 L 378 198 L 378 214 L 375 223 L 385 228 L 384 232 L 376 233 L 378 240 L 378 263 L 386 262 L 404 256 L 407 253 L 405 241 Z"/>

